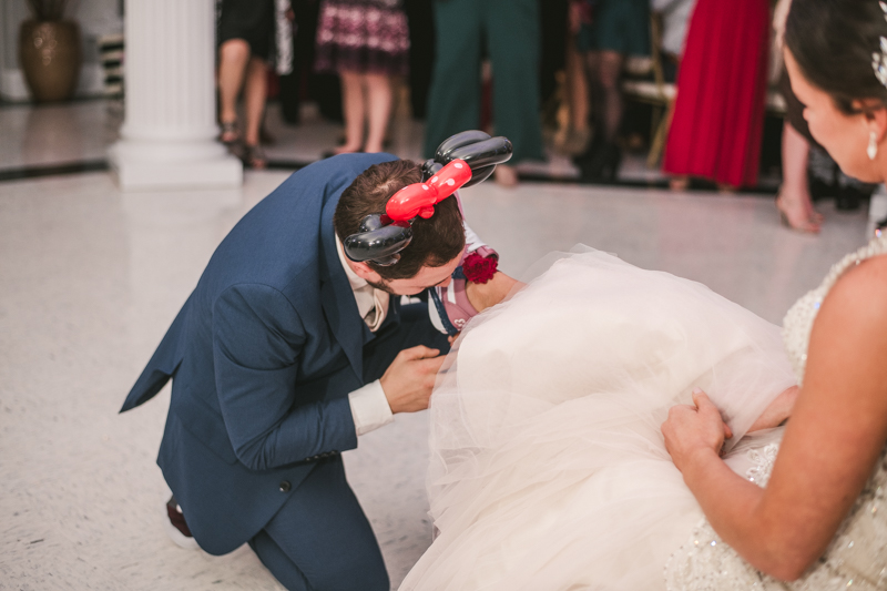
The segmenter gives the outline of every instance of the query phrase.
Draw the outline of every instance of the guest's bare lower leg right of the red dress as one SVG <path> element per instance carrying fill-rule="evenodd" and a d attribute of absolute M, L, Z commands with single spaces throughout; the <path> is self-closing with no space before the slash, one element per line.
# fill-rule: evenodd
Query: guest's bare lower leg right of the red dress
<path fill-rule="evenodd" d="M 807 140 L 786 122 L 783 125 L 783 185 L 776 207 L 785 223 L 801 232 L 819 232 L 823 216 L 813 208 L 807 183 Z"/>

